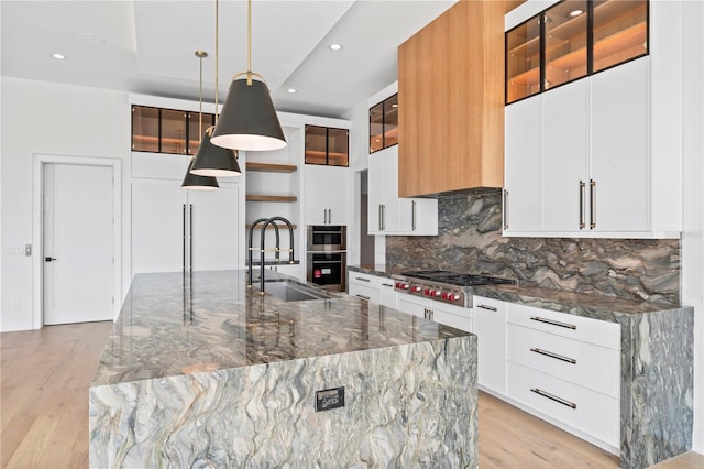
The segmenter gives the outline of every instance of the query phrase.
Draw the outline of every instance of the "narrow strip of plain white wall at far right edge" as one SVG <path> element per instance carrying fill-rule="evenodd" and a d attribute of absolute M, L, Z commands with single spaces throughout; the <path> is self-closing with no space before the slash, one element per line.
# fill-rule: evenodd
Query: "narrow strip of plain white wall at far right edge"
<path fill-rule="evenodd" d="M 682 303 L 694 306 L 694 435 L 704 452 L 704 2 L 683 8 Z"/>

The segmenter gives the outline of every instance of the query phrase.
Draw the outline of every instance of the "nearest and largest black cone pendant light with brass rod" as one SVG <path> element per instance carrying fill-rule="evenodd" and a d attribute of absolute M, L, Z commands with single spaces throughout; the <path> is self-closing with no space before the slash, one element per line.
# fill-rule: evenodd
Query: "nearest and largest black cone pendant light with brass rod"
<path fill-rule="evenodd" d="M 238 150 L 278 150 L 286 138 L 264 77 L 252 72 L 252 0 L 248 0 L 246 72 L 234 75 L 212 143 Z"/>

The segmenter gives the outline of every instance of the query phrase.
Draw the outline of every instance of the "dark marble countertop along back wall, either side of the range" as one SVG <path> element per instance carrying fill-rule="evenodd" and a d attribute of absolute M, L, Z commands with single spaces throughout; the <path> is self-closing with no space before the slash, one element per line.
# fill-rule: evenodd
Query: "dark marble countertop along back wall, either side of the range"
<path fill-rule="evenodd" d="M 391 277 L 400 273 L 385 265 L 350 265 L 353 272 Z M 403 270 L 407 272 L 408 269 Z M 509 303 L 568 313 L 595 319 L 620 323 L 622 316 L 678 310 L 672 305 L 659 305 L 646 301 L 624 299 L 594 293 L 565 292 L 534 285 L 483 285 L 470 288 L 472 294 Z"/>

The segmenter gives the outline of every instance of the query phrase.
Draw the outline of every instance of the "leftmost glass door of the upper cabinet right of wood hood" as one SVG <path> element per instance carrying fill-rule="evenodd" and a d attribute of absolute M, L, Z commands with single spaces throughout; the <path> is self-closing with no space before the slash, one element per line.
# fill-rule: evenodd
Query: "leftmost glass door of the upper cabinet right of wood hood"
<path fill-rule="evenodd" d="M 506 33 L 506 103 L 540 92 L 540 15 Z"/>

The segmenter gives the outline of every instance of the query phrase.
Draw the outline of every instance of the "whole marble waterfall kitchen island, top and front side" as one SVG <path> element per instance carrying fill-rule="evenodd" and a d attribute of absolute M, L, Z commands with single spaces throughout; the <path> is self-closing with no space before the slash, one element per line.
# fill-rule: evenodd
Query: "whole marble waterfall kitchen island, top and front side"
<path fill-rule="evenodd" d="M 136 275 L 89 391 L 90 467 L 476 467 L 476 336 L 330 296 Z"/>

